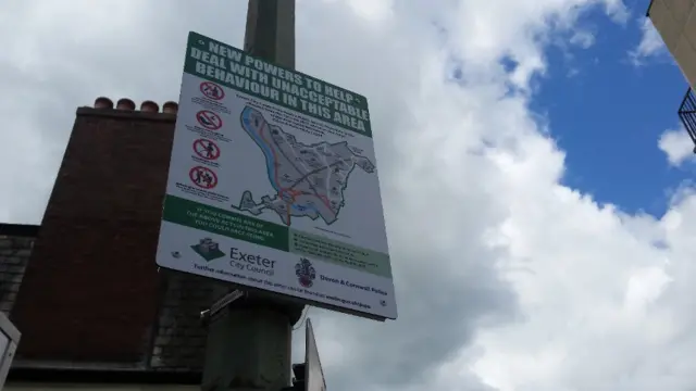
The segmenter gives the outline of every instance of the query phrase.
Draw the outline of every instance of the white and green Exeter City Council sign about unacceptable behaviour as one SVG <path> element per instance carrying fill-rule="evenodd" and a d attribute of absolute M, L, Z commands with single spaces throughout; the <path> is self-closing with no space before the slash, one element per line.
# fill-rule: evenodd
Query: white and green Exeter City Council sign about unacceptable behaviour
<path fill-rule="evenodd" d="M 178 108 L 159 266 L 397 317 L 364 97 L 190 33 Z"/>

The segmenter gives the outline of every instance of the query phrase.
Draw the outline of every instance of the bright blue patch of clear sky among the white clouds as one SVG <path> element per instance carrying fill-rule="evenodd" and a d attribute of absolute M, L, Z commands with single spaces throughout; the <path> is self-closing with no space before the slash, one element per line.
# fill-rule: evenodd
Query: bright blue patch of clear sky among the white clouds
<path fill-rule="evenodd" d="M 678 127 L 687 84 L 667 54 L 642 65 L 630 61 L 642 39 L 647 2 L 630 5 L 625 26 L 600 10 L 583 17 L 581 26 L 594 36 L 591 47 L 547 52 L 549 66 L 537 80 L 532 109 L 549 121 L 567 152 L 567 185 L 600 203 L 659 216 L 670 189 L 691 177 L 687 169 L 669 166 L 657 144 L 664 130 Z"/>

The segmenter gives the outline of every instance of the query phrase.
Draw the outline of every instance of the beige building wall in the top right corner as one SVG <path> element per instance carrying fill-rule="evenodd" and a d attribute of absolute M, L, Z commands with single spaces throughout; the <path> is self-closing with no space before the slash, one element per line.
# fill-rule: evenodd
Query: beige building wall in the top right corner
<path fill-rule="evenodd" d="M 696 0 L 654 0 L 648 11 L 692 88 L 696 89 Z"/>

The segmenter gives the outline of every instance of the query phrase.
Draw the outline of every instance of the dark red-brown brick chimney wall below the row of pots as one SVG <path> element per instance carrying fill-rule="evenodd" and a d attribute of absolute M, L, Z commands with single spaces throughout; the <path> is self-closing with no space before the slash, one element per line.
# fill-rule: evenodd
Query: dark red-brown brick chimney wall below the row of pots
<path fill-rule="evenodd" d="M 174 119 L 77 110 L 11 313 L 20 362 L 200 368 L 213 288 L 154 264 Z"/>

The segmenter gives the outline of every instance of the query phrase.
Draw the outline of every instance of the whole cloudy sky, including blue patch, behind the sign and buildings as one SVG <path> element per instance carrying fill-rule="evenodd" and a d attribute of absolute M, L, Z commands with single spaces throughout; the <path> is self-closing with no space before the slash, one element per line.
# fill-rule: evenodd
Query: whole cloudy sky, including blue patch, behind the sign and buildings
<path fill-rule="evenodd" d="M 687 85 L 647 7 L 297 1 L 297 68 L 370 100 L 399 302 L 310 310 L 332 390 L 696 389 Z M 241 46 L 245 14 L 0 2 L 0 220 L 40 223 L 75 108 L 176 100 L 187 33 Z"/>

